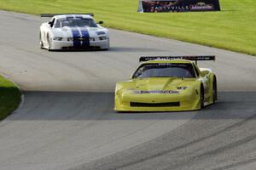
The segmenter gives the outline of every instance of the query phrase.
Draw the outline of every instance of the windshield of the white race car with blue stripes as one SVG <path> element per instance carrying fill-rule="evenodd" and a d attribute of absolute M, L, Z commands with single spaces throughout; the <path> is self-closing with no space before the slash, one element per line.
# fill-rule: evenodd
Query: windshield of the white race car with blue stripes
<path fill-rule="evenodd" d="M 69 27 L 97 27 L 96 22 L 92 19 L 84 19 L 84 18 L 67 18 L 67 19 L 59 19 L 56 20 L 55 28 L 62 28 L 64 26 Z"/>

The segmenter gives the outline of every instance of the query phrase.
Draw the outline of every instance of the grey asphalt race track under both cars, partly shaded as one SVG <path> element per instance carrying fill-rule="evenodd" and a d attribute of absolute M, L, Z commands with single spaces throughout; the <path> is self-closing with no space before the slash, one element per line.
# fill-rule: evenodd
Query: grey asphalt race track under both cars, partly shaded
<path fill-rule="evenodd" d="M 0 72 L 23 91 L 0 122 L 1 170 L 214 169 L 256 167 L 256 58 L 110 30 L 109 51 L 38 48 L 45 19 L 0 12 Z M 202 111 L 113 111 L 115 82 L 141 55 L 214 54 L 219 99 Z"/>

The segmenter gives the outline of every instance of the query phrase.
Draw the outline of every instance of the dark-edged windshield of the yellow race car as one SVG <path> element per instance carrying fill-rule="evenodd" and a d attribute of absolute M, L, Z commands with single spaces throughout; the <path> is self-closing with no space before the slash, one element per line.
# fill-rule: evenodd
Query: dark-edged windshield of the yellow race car
<path fill-rule="evenodd" d="M 141 65 L 132 78 L 148 77 L 195 77 L 191 64 L 157 63 Z"/>

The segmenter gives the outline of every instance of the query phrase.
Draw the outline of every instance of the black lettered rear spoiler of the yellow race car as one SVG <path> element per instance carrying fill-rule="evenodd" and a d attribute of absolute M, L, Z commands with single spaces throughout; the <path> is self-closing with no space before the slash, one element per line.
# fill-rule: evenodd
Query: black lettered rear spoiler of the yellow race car
<path fill-rule="evenodd" d="M 195 63 L 197 61 L 207 61 L 207 60 L 215 60 L 215 55 L 199 55 L 199 56 L 143 56 L 140 58 L 140 62 L 156 60 L 156 59 L 188 59 L 193 60 Z"/>

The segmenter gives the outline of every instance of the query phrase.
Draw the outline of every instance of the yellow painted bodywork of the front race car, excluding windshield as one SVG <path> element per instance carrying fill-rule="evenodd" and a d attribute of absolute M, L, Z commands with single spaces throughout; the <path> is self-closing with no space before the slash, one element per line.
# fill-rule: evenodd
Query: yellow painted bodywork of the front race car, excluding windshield
<path fill-rule="evenodd" d="M 192 63 L 189 60 L 151 60 L 145 63 Z M 196 65 L 195 65 L 196 66 Z M 198 68 L 197 68 L 198 69 Z M 199 70 L 199 69 L 198 69 Z M 201 84 L 203 77 L 208 77 L 209 86 L 205 96 L 205 105 L 213 103 L 212 80 L 214 74 L 204 71 L 204 75 L 195 78 L 173 78 L 173 77 L 149 77 L 134 78 L 126 82 L 117 82 L 114 97 L 115 111 L 195 111 L 201 109 Z M 172 82 L 168 85 L 167 82 Z M 161 82 L 163 82 L 161 84 Z M 163 87 L 163 84 L 166 83 Z M 138 84 L 146 84 L 138 87 Z M 137 93 L 138 91 L 150 92 L 159 90 L 160 93 Z M 164 93 L 161 93 L 163 90 Z M 165 94 L 165 92 L 175 92 Z M 158 91 L 157 91 L 158 92 Z M 178 92 L 178 93 L 177 93 Z M 162 106 L 162 104 L 179 103 L 179 105 Z M 148 104 L 147 106 L 131 106 L 131 103 Z M 154 106 L 151 106 L 154 105 Z M 160 106 L 158 106 L 160 105 Z"/>

